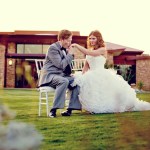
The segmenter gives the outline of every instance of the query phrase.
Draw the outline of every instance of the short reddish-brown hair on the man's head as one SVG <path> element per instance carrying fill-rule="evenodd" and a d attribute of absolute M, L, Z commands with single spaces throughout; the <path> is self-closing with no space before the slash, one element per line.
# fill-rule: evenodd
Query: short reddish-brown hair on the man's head
<path fill-rule="evenodd" d="M 57 39 L 59 40 L 64 40 L 64 39 L 68 39 L 70 36 L 72 36 L 72 32 L 69 30 L 61 30 L 58 33 Z"/>

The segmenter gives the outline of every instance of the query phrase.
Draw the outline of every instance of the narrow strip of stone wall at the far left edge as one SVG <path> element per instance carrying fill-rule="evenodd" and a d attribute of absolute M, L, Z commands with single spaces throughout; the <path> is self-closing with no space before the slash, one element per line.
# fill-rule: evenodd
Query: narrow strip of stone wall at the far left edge
<path fill-rule="evenodd" d="M 0 44 L 0 88 L 4 87 L 5 49 L 5 46 L 3 44 Z"/>

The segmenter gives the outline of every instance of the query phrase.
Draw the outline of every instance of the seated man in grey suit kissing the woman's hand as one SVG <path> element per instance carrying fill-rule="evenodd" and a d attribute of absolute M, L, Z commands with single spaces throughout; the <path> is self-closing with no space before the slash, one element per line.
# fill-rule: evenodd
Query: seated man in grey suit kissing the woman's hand
<path fill-rule="evenodd" d="M 70 116 L 72 110 L 81 110 L 78 99 L 79 87 L 71 87 L 74 78 L 71 74 L 71 62 L 74 59 L 74 50 L 69 49 L 72 42 L 72 33 L 69 30 L 61 30 L 57 36 L 58 41 L 53 43 L 46 54 L 45 63 L 40 74 L 39 86 L 55 88 L 53 106 L 49 117 L 56 117 L 57 109 L 64 108 L 66 90 L 71 90 L 68 109 L 62 112 L 62 116 Z"/>

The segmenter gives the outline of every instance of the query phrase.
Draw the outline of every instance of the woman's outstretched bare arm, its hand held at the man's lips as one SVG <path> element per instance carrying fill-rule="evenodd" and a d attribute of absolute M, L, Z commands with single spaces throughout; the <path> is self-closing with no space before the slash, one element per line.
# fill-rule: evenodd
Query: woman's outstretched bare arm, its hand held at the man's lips
<path fill-rule="evenodd" d="M 98 48 L 97 50 L 90 51 L 79 44 L 72 44 L 71 46 L 75 46 L 85 55 L 91 55 L 91 56 L 104 55 L 105 57 L 107 57 L 107 51 L 105 47 L 101 47 L 101 48 Z"/>

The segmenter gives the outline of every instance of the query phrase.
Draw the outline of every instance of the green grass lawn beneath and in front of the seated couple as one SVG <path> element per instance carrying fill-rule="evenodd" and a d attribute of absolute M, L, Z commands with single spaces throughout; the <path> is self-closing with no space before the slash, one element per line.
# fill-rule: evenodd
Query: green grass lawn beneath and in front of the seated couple
<path fill-rule="evenodd" d="M 150 102 L 148 93 L 137 96 Z M 43 106 L 38 117 L 34 89 L 1 89 L 0 101 L 16 112 L 16 121 L 34 124 L 44 136 L 40 150 L 150 149 L 150 111 L 95 115 L 74 111 L 71 117 L 58 111 L 57 118 L 48 118 Z"/>

